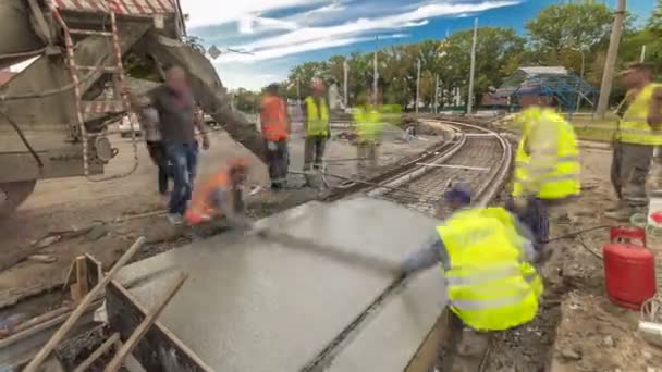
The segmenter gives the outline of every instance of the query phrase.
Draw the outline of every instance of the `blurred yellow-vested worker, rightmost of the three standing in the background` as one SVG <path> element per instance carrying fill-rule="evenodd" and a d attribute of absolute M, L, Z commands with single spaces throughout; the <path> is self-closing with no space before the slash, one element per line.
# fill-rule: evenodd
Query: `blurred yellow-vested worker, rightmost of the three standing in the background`
<path fill-rule="evenodd" d="M 381 122 L 381 91 L 375 95 L 368 90 L 366 104 L 353 110 L 354 125 L 356 126 L 356 158 L 358 168 L 366 169 L 366 163 L 375 170 L 378 165 L 378 146 L 383 132 Z"/>

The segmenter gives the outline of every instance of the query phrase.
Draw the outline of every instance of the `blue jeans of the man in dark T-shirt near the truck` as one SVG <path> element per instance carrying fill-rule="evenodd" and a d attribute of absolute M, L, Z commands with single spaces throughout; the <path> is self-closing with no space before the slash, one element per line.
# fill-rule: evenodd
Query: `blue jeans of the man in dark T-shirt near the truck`
<path fill-rule="evenodd" d="M 166 142 L 168 160 L 173 166 L 174 186 L 170 194 L 170 213 L 184 214 L 196 176 L 198 144 Z"/>

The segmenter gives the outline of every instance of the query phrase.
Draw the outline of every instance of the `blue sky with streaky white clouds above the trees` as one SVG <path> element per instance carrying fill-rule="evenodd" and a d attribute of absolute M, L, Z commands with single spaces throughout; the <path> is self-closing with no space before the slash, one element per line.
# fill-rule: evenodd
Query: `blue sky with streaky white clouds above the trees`
<path fill-rule="evenodd" d="M 479 26 L 525 24 L 554 0 L 181 0 L 189 35 L 222 54 L 211 60 L 223 84 L 259 90 L 306 61 L 372 51 L 394 44 L 443 39 Z M 616 0 L 604 0 L 614 7 Z M 645 20 L 653 0 L 630 0 Z M 377 41 L 376 41 L 377 38 Z M 249 51 L 236 53 L 226 48 Z M 480 57 L 478 57 L 480 58 Z"/>

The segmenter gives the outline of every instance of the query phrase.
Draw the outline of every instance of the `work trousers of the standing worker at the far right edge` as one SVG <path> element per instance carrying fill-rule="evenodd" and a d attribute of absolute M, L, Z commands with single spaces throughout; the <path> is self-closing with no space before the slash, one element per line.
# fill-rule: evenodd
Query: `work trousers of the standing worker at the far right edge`
<path fill-rule="evenodd" d="M 611 181 L 620 201 L 629 207 L 646 206 L 646 177 L 650 171 L 653 147 L 623 142 L 613 146 Z"/>

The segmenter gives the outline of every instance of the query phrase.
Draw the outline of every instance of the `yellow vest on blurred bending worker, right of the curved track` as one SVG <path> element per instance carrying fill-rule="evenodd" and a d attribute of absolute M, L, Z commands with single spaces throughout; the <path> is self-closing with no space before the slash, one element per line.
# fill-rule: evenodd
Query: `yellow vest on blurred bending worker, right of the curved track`
<path fill-rule="evenodd" d="M 529 179 L 531 170 L 543 172 L 540 175 L 541 183 L 538 185 L 536 194 L 538 198 L 562 199 L 579 195 L 581 189 L 579 150 L 572 125 L 552 110 L 537 107 L 525 110 L 519 120 L 523 122 L 524 131 L 515 158 L 515 179 L 512 195 L 518 197 L 524 194 L 524 183 Z M 536 164 L 531 164 L 531 157 L 525 149 L 525 144 L 536 125 L 554 125 L 557 133 L 555 149 L 551 149 L 554 153 L 550 153 L 550 156 L 555 157 L 554 165 L 550 169 L 540 169 L 536 168 Z M 532 144 L 532 146 L 540 146 L 540 144 Z"/>

